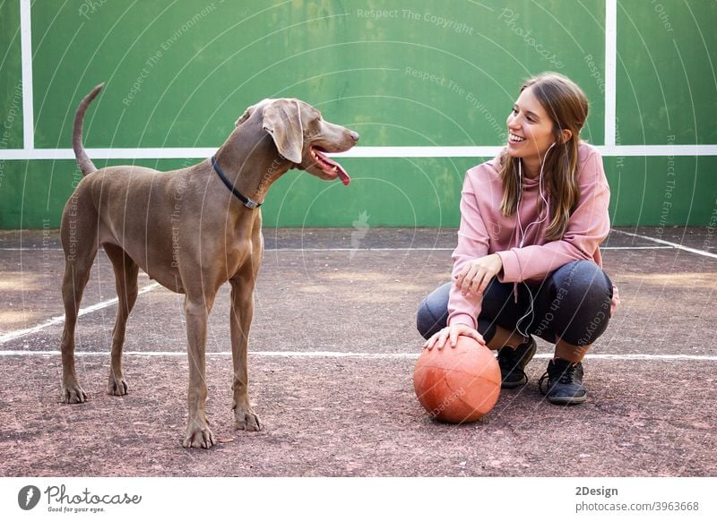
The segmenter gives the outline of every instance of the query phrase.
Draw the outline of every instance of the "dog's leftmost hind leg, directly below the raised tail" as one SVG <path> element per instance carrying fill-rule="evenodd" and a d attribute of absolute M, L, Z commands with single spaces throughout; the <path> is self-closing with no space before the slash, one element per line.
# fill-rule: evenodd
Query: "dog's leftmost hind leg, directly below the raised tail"
<path fill-rule="evenodd" d="M 73 209 L 76 214 L 76 210 Z M 74 329 L 80 311 L 82 293 L 90 279 L 92 262 L 97 254 L 97 218 L 63 218 L 61 238 L 65 250 L 65 275 L 62 298 L 65 304 L 65 329 L 60 341 L 62 353 L 62 394 L 67 404 L 79 404 L 87 399 L 80 387 L 74 368 Z"/>

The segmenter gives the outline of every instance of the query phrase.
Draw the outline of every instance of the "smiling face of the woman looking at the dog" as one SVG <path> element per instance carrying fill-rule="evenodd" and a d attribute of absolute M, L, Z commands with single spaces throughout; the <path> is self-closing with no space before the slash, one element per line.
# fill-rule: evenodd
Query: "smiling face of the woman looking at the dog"
<path fill-rule="evenodd" d="M 508 154 L 523 158 L 526 165 L 540 165 L 550 145 L 555 142 L 553 122 L 528 87 L 515 101 L 508 115 Z"/>

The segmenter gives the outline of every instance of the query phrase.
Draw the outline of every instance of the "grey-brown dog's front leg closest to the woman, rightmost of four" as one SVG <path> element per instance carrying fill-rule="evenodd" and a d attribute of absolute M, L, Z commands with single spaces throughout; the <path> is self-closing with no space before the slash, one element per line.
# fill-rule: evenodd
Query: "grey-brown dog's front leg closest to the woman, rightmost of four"
<path fill-rule="evenodd" d="M 231 355 L 234 363 L 234 379 L 231 388 L 234 391 L 234 425 L 246 431 L 261 431 L 262 423 L 249 403 L 248 370 L 246 368 L 246 350 L 249 328 L 254 316 L 255 278 L 238 277 L 231 283 Z"/>

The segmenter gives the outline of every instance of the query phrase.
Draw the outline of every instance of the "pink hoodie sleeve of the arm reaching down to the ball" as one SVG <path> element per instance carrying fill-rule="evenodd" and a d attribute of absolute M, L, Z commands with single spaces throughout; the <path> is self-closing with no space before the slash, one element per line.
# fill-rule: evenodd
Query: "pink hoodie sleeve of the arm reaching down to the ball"
<path fill-rule="evenodd" d="M 448 325 L 465 324 L 477 328 L 482 296 L 463 296 L 455 284 L 455 277 L 472 259 L 488 255 L 488 231 L 480 215 L 478 200 L 471 182 L 471 171 L 465 176 L 461 195 L 461 227 L 458 244 L 453 253 L 451 292 L 448 297 Z"/>

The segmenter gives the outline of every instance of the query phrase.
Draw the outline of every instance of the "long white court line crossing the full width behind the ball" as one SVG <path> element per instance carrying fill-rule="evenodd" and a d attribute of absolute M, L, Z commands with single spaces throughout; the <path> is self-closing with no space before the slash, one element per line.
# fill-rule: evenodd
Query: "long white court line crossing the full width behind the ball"
<path fill-rule="evenodd" d="M 342 351 L 250 351 L 251 356 L 259 356 L 266 358 L 361 358 L 361 359 L 416 359 L 419 352 L 416 353 L 357 353 Z M 2 356 L 59 356 L 59 351 L 0 351 Z M 109 351 L 99 352 L 75 352 L 76 356 L 109 356 Z M 125 356 L 136 357 L 182 357 L 186 356 L 185 351 L 128 351 Z M 216 353 L 207 353 L 207 358 L 212 356 L 231 356 L 230 351 L 219 351 Z M 549 353 L 536 354 L 534 358 L 552 358 Z M 592 360 L 652 360 L 652 361 L 676 361 L 676 360 L 700 360 L 703 362 L 717 362 L 717 355 L 710 354 L 587 354 L 586 359 Z"/>

